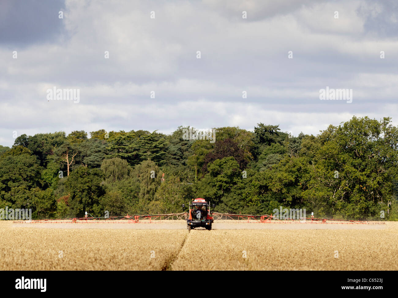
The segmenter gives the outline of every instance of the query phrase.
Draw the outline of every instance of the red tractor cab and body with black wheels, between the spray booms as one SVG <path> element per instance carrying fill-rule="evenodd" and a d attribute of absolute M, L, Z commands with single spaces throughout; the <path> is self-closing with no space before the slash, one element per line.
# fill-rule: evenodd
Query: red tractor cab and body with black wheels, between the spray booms
<path fill-rule="evenodd" d="M 185 208 L 185 204 L 182 205 Z M 213 208 L 215 205 L 213 204 Z M 187 229 L 195 229 L 197 227 L 204 227 L 206 230 L 211 230 L 211 224 L 213 223 L 213 217 L 210 216 L 210 204 L 205 199 L 197 198 L 192 199 L 189 203 Z"/>

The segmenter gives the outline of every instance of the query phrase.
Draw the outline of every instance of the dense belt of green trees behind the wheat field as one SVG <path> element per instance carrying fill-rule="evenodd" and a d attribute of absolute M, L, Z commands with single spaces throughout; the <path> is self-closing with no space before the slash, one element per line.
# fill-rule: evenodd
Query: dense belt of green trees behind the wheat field
<path fill-rule="evenodd" d="M 215 129 L 215 142 L 144 130 L 18 136 L 0 146 L 0 208 L 33 218 L 183 212 L 196 197 L 223 213 L 306 208 L 338 219 L 398 220 L 398 129 L 357 118 L 317 136 L 278 125 Z M 381 216 L 384 211 L 384 217 Z"/>

